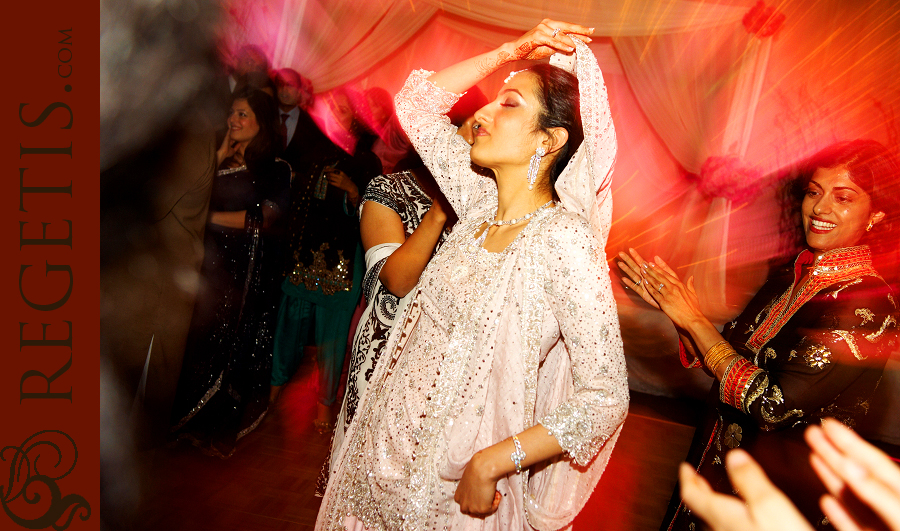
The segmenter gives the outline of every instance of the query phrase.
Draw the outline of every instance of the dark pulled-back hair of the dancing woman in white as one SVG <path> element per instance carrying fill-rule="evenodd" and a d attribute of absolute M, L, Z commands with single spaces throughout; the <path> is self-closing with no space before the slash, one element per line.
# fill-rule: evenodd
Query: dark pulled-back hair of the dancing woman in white
<path fill-rule="evenodd" d="M 569 133 L 569 140 L 557 151 L 556 159 L 550 168 L 547 182 L 553 191 L 556 179 L 584 140 L 578 78 L 571 72 L 549 64 L 535 65 L 529 68 L 528 72 L 534 74 L 538 80 L 535 94 L 541 104 L 541 111 L 538 113 L 537 130 L 549 134 L 550 129 L 562 127 Z"/>

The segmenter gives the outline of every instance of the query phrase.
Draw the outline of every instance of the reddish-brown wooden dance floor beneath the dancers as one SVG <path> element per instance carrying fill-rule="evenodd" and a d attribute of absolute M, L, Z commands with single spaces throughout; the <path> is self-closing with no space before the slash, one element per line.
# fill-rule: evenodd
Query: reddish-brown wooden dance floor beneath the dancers
<path fill-rule="evenodd" d="M 694 404 L 633 394 L 609 466 L 576 530 L 659 528 L 694 428 Z M 316 433 L 315 364 L 307 355 L 260 427 L 234 455 L 189 445 L 157 450 L 148 466 L 139 530 L 300 531 L 313 528 L 316 477 L 331 438 Z"/>

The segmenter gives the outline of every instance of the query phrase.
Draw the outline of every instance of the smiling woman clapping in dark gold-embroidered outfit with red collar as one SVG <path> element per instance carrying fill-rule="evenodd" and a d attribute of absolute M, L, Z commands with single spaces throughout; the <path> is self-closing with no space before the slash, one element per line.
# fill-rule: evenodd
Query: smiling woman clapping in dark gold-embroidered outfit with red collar
<path fill-rule="evenodd" d="M 825 417 L 853 427 L 895 347 L 897 306 L 881 273 L 896 251 L 897 176 L 877 142 L 816 154 L 787 194 L 803 250 L 722 333 L 700 311 L 693 279 L 682 284 L 659 257 L 619 253 L 626 286 L 675 325 L 685 367 L 716 379 L 687 459 L 713 489 L 731 493 L 724 455 L 741 448 L 814 526 L 829 528 L 803 431 Z M 662 529 L 695 528 L 676 494 Z"/>

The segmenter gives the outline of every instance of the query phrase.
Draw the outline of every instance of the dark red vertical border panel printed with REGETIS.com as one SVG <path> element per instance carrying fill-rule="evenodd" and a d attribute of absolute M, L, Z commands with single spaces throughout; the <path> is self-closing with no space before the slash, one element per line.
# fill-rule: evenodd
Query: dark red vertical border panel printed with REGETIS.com
<path fill-rule="evenodd" d="M 4 11 L 0 530 L 100 529 L 99 3 Z"/>

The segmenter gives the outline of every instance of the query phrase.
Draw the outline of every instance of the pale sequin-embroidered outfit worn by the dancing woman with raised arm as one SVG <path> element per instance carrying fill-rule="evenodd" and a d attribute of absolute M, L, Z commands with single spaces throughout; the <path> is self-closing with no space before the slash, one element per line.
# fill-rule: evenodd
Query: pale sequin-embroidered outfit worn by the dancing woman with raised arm
<path fill-rule="evenodd" d="M 443 116 L 458 99 L 413 72 L 397 114 L 460 215 L 397 320 L 364 392 L 316 529 L 559 529 L 590 497 L 628 408 L 604 244 L 615 133 L 593 54 L 576 40 L 585 141 L 546 208 L 502 252 L 473 235 L 496 184 Z M 571 68 L 571 67 L 570 67 Z M 536 423 L 564 454 L 497 483 L 496 513 L 453 501 L 471 456 Z"/>

